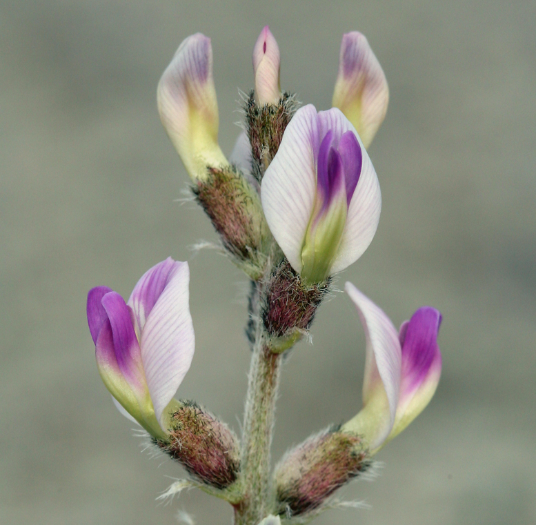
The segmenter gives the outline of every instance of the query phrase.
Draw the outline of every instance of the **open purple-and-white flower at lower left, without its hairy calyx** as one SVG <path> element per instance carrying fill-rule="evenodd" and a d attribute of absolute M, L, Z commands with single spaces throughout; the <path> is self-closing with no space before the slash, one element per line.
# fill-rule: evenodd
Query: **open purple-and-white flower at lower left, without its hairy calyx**
<path fill-rule="evenodd" d="M 107 286 L 88 293 L 88 325 L 101 378 L 119 411 L 166 437 L 173 396 L 190 368 L 195 337 L 190 270 L 171 258 L 139 279 L 130 299 Z"/>

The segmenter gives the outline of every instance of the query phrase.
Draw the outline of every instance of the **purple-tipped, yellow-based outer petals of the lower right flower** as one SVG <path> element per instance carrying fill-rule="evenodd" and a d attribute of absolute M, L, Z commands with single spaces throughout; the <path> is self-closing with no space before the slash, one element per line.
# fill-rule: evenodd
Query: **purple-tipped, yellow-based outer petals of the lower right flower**
<path fill-rule="evenodd" d="M 441 376 L 437 333 L 441 313 L 430 306 L 419 308 L 402 324 L 402 375 L 395 425 L 388 439 L 401 433 L 432 399 Z"/>

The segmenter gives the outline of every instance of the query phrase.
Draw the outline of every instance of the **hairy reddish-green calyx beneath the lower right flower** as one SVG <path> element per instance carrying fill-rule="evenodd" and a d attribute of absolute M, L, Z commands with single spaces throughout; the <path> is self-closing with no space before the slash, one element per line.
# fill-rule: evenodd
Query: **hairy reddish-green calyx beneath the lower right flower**
<path fill-rule="evenodd" d="M 310 437 L 275 468 L 277 512 L 294 517 L 315 510 L 369 465 L 357 435 L 328 429 Z"/>

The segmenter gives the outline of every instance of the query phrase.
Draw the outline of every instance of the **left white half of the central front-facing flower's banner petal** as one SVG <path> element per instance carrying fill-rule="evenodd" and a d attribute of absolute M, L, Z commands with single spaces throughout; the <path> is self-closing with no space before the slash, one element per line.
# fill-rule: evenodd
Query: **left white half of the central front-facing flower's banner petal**
<path fill-rule="evenodd" d="M 325 134 L 324 134 L 325 135 Z M 319 150 L 317 110 L 297 110 L 261 183 L 268 226 L 292 268 L 301 271 L 301 248 L 315 203 Z"/>

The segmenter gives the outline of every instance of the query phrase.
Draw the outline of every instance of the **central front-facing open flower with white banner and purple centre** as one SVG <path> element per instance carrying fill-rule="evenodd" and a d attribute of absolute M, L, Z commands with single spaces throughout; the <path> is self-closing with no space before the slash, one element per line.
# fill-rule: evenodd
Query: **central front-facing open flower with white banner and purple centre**
<path fill-rule="evenodd" d="M 359 259 L 379 221 L 373 164 L 340 110 L 300 108 L 261 184 L 266 221 L 292 268 L 320 282 Z"/>

